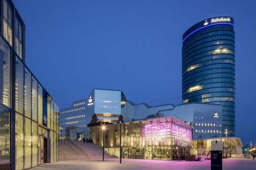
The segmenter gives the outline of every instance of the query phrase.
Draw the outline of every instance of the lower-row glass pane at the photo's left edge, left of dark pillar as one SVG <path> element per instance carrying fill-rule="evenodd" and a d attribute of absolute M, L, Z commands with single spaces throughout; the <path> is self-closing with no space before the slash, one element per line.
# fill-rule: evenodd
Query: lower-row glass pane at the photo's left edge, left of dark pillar
<path fill-rule="evenodd" d="M 10 156 L 10 110 L 0 105 L 0 163 L 8 163 Z"/>

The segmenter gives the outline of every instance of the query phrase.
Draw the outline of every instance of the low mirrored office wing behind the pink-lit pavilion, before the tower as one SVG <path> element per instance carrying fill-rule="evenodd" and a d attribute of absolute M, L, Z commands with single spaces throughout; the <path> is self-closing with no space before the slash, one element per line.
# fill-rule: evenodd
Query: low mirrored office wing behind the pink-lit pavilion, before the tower
<path fill-rule="evenodd" d="M 222 137 L 222 106 L 220 104 L 192 103 L 176 106 L 166 104 L 152 107 L 145 103 L 134 104 L 127 101 L 127 104 L 122 109 L 124 109 L 122 114 L 129 115 L 132 121 L 175 117 L 179 120 L 190 122 L 193 124 L 193 140 Z M 133 112 L 127 110 L 132 110 Z M 123 117 L 125 118 L 126 116 Z"/>

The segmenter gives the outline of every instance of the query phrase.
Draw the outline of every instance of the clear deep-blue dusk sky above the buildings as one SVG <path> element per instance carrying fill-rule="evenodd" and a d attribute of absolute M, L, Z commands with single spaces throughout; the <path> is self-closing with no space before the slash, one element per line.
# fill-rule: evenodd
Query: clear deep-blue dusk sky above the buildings
<path fill-rule="evenodd" d="M 182 103 L 182 35 L 234 18 L 236 137 L 256 145 L 256 0 L 13 0 L 26 24 L 26 64 L 60 106 L 94 88 L 135 103 Z"/>

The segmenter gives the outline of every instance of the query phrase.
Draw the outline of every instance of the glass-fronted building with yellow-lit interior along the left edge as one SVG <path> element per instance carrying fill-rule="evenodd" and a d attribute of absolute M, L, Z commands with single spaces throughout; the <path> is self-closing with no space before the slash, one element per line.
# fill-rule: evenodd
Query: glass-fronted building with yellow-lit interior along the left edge
<path fill-rule="evenodd" d="M 0 169 L 59 161 L 59 107 L 25 64 L 25 24 L 0 0 Z"/>

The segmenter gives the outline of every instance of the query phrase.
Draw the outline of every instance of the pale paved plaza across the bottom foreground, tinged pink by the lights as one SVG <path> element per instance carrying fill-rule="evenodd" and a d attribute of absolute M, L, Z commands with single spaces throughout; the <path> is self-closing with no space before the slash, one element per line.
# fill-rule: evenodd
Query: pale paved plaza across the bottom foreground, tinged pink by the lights
<path fill-rule="evenodd" d="M 142 159 L 75 160 L 45 164 L 31 170 L 210 170 L 211 161 L 161 161 Z M 223 160 L 223 170 L 256 170 L 256 161 L 246 158 Z"/>

